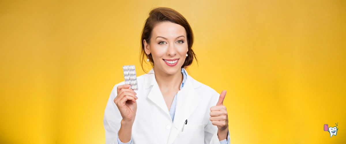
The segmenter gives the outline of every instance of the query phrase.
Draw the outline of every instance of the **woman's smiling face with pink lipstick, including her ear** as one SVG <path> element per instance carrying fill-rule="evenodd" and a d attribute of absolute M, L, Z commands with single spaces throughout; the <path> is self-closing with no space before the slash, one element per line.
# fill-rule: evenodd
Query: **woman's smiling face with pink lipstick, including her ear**
<path fill-rule="evenodd" d="M 146 54 L 152 54 L 155 71 L 180 73 L 189 50 L 185 28 L 172 22 L 158 23 L 153 28 L 150 44 L 144 40 L 144 47 Z"/>

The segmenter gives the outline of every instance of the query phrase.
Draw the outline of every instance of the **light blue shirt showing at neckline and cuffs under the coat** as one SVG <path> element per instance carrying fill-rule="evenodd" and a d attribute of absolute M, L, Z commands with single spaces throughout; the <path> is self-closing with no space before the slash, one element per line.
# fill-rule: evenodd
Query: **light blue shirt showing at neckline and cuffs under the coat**
<path fill-rule="evenodd" d="M 186 75 L 187 72 L 185 71 L 185 69 L 182 68 L 182 69 L 181 69 L 181 73 L 183 74 L 183 82 L 180 84 L 180 89 L 183 88 L 184 83 L 185 83 L 185 80 L 186 80 L 186 77 L 187 77 L 187 75 Z M 174 96 L 174 98 L 173 98 L 173 102 L 172 102 L 171 108 L 170 108 L 170 115 L 171 115 L 171 118 L 172 118 L 172 122 L 173 122 L 174 114 L 175 114 L 175 105 L 176 105 L 176 97 L 177 97 L 177 95 L 178 95 L 178 94 L 175 94 L 175 96 Z M 229 130 L 228 130 L 227 135 L 229 135 Z M 119 140 L 119 135 L 117 134 L 117 141 L 118 141 L 118 144 L 131 144 L 131 142 L 132 142 L 132 136 L 131 136 L 131 140 L 130 140 L 129 142 L 127 142 L 127 143 L 122 143 L 122 142 Z M 229 139 L 228 139 L 228 141 L 225 139 L 225 140 L 220 141 L 220 144 L 228 144 L 228 142 L 229 142 Z"/>

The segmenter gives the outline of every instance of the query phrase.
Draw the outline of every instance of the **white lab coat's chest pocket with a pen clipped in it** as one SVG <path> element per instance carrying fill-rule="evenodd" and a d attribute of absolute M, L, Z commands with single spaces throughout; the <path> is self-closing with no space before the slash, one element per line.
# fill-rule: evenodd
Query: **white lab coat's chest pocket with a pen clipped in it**
<path fill-rule="evenodd" d="M 204 143 L 204 124 L 201 125 L 184 125 L 183 131 L 180 131 L 175 139 L 176 143 Z"/>

